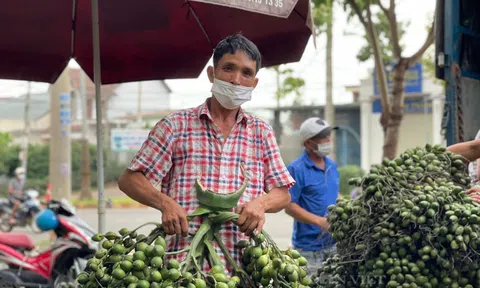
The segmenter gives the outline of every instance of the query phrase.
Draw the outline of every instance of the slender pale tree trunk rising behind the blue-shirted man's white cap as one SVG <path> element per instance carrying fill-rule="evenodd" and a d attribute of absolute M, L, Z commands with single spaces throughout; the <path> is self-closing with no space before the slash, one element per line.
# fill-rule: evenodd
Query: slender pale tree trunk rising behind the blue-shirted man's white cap
<path fill-rule="evenodd" d="M 330 125 L 335 124 L 335 106 L 333 105 L 333 0 L 313 0 L 313 23 L 315 25 L 315 33 L 320 35 L 326 34 L 327 47 L 325 52 L 326 62 L 326 99 L 325 99 L 325 120 Z M 332 135 L 332 141 L 335 141 Z M 335 143 L 335 142 L 334 142 Z M 335 147 L 335 145 L 333 145 Z M 331 155 L 335 157 L 335 149 Z"/>

